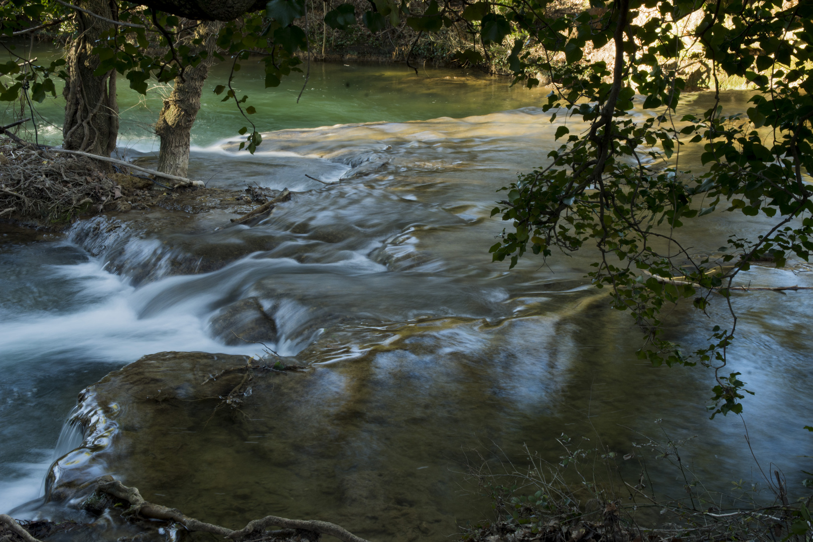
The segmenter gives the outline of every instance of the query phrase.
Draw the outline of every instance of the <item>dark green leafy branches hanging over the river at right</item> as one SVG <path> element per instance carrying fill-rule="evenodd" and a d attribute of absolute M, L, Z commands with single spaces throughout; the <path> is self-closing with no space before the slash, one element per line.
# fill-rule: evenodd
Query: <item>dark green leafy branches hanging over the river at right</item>
<path fill-rule="evenodd" d="M 813 249 L 813 192 L 805 179 L 813 171 L 813 3 L 619 0 L 556 19 L 543 15 L 546 2 L 510 5 L 506 19 L 543 51 L 533 57 L 522 52 L 526 41 L 515 41 L 515 81 L 533 86 L 532 74 L 548 74 L 554 92 L 543 109 L 552 112 L 551 122 L 576 116 L 589 129 L 574 135 L 559 127 L 556 139 L 567 139 L 548 154 L 549 164 L 502 189 L 506 197 L 493 215 L 510 228 L 491 247 L 493 259 L 508 258 L 514 267 L 528 249 L 547 257 L 553 249 L 596 246 L 589 277 L 598 288 L 611 288 L 613 306 L 628 310 L 645 330 L 639 356 L 655 365 L 710 366 L 712 417 L 739 414 L 745 384 L 739 373 L 722 372 L 737 327 L 733 281 L 755 260 L 782 267 L 789 254 L 809 261 Z M 696 26 L 679 24 L 693 11 Z M 608 43 L 615 46 L 612 67 L 579 62 L 588 44 Z M 677 115 L 686 63 L 711 74 L 715 104 L 702 116 Z M 757 91 L 747 117 L 723 115 L 721 76 L 744 77 Z M 636 94 L 645 111 L 654 110 L 646 119 L 627 114 Z M 680 147 L 691 144 L 703 145 L 708 171 L 701 175 L 680 170 Z M 755 240 L 731 236 L 717 262 L 693 258 L 676 230 L 715 210 L 774 223 Z M 705 312 L 714 297 L 733 318 L 728 329 L 712 329 L 706 348 L 685 355 L 663 340 L 664 306 L 693 299 Z"/>

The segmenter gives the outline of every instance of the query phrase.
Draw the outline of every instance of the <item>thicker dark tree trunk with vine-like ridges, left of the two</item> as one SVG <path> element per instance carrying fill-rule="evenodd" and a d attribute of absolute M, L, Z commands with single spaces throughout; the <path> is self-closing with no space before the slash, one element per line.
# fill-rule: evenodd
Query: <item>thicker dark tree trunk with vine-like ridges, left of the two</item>
<path fill-rule="evenodd" d="M 81 7 L 107 19 L 118 18 L 118 8 L 113 0 L 84 0 L 76 3 L 81 3 Z M 114 25 L 81 11 L 76 11 L 76 24 L 77 36 L 66 55 L 63 147 L 110 156 L 119 135 L 115 70 L 102 76 L 94 76 L 93 71 L 98 67 L 99 59 L 91 50 L 102 33 L 111 31 Z"/>

